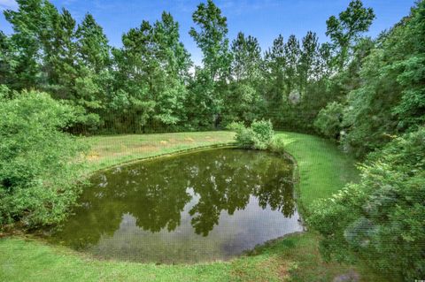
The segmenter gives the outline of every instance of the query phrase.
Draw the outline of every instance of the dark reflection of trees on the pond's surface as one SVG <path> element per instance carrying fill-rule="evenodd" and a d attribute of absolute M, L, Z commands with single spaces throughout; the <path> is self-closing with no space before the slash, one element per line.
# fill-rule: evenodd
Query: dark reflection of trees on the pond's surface
<path fill-rule="evenodd" d="M 124 228 L 130 217 L 151 233 L 175 232 L 182 217 L 189 218 L 193 231 L 207 237 L 221 224 L 223 212 L 232 216 L 250 202 L 291 217 L 296 212 L 292 171 L 282 156 L 241 149 L 162 157 L 104 171 L 92 179 L 81 206 L 52 239 L 89 248 Z"/>

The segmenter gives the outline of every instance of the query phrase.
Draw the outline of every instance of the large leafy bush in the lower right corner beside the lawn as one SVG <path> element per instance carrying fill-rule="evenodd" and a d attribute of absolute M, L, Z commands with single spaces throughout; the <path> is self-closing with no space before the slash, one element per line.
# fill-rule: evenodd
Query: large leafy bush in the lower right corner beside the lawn
<path fill-rule="evenodd" d="M 425 128 L 370 154 L 359 184 L 317 204 L 308 223 L 328 259 L 366 259 L 411 281 L 425 275 Z"/>

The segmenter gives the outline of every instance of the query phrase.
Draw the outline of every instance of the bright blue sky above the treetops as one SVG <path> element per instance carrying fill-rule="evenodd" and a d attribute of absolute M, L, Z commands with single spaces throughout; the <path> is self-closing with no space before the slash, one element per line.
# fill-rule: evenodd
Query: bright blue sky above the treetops
<path fill-rule="evenodd" d="M 189 36 L 193 27 L 192 13 L 202 0 L 52 0 L 58 9 L 71 11 L 77 22 L 86 12 L 93 14 L 104 27 L 112 46 L 121 46 L 121 35 L 131 27 L 139 27 L 142 20 L 159 19 L 162 11 L 169 11 L 180 24 L 181 40 L 199 65 L 202 53 Z M 205 1 L 206 2 L 206 1 Z M 375 37 L 384 29 L 392 27 L 408 15 L 414 0 L 364 0 L 372 7 L 376 19 L 367 35 Z M 228 37 L 233 40 L 239 31 L 259 39 L 261 49 L 267 50 L 278 34 L 285 39 L 295 34 L 300 39 L 308 30 L 316 32 L 321 42 L 328 41 L 325 35 L 326 19 L 344 11 L 350 0 L 215 0 L 224 16 L 228 18 Z M 0 0 L 0 10 L 16 9 L 14 0 Z M 0 29 L 6 34 L 12 28 L 0 16 Z"/>

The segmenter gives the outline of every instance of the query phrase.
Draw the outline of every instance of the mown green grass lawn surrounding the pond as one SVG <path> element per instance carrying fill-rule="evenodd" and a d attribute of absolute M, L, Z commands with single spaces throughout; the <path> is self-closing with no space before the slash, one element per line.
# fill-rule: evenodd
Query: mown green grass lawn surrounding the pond
<path fill-rule="evenodd" d="M 298 161 L 299 203 L 308 213 L 313 200 L 328 197 L 355 180 L 354 161 L 334 144 L 299 133 L 279 133 Z M 88 172 L 131 160 L 232 141 L 233 133 L 164 133 L 89 137 Z M 314 232 L 274 240 L 257 255 L 230 262 L 155 265 L 99 261 L 31 236 L 0 240 L 0 281 L 332 281 L 354 269 L 362 281 L 379 281 L 364 266 L 325 263 Z"/>

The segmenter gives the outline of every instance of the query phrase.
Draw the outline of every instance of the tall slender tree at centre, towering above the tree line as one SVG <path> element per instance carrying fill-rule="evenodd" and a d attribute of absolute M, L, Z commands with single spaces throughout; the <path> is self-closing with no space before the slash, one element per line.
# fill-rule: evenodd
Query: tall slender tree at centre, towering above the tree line
<path fill-rule="evenodd" d="M 231 56 L 228 50 L 228 23 L 220 8 L 212 0 L 201 3 L 192 14 L 197 25 L 189 34 L 202 50 L 203 69 L 197 69 L 191 81 L 189 109 L 197 113 L 191 118 L 193 128 L 216 127 L 223 111 L 223 95 L 230 72 Z M 205 90 L 203 90 L 203 88 Z"/>

